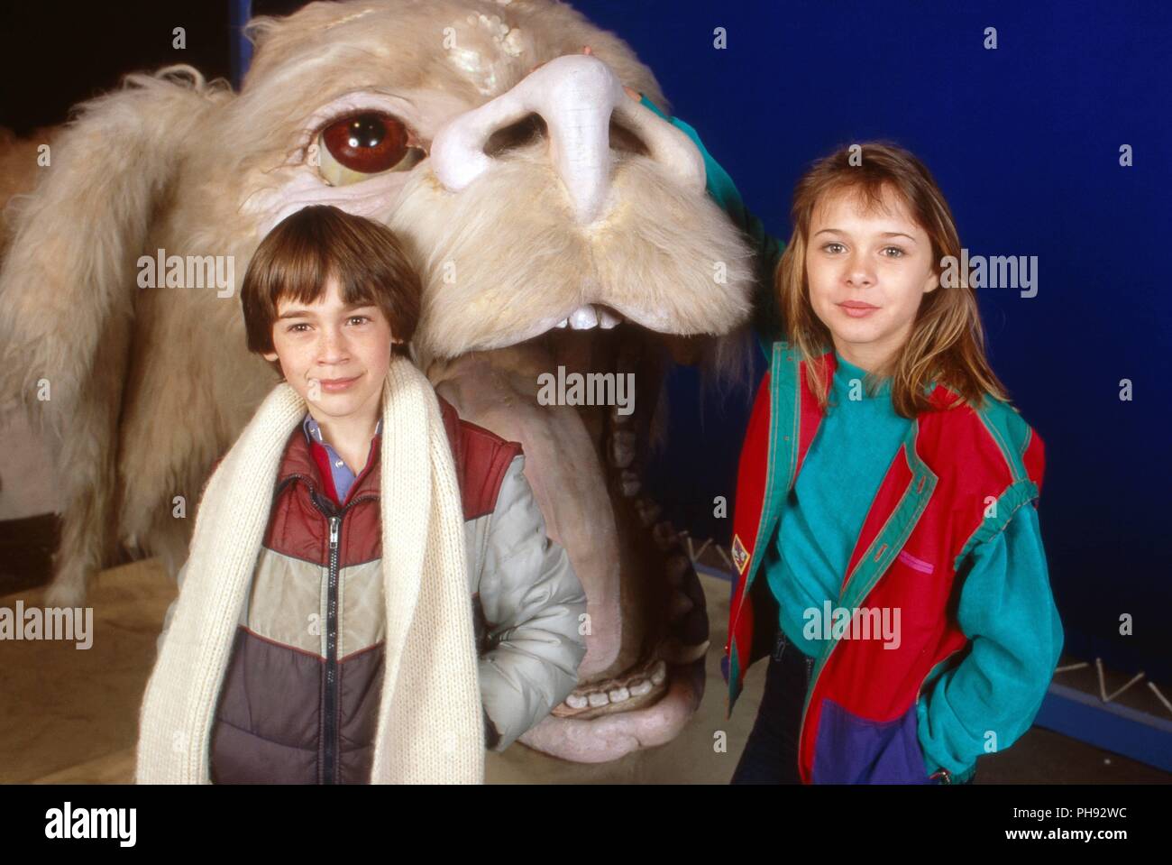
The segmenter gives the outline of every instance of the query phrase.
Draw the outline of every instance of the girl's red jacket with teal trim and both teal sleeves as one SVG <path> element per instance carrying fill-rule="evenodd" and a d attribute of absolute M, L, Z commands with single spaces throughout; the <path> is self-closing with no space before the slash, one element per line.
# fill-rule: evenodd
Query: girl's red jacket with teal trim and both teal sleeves
<path fill-rule="evenodd" d="M 709 193 L 758 251 L 754 329 L 769 369 L 745 433 L 734 510 L 737 577 L 722 661 L 731 713 L 745 669 L 774 647 L 778 609 L 768 580 L 759 578 L 762 563 L 823 418 L 806 386 L 805 365 L 825 365 L 829 381 L 836 357 L 827 352 L 805 359 L 777 339 L 781 319 L 771 287 L 783 244 L 745 209 L 732 179 L 691 127 L 668 118 L 646 97 L 642 104 L 693 139 L 704 157 Z M 956 614 L 966 577 L 976 575 L 975 561 L 996 546 L 989 542 L 1006 531 L 1018 509 L 1033 508 L 1038 497 L 1042 440 L 1006 402 L 987 397 L 979 409 L 963 403 L 946 408 L 956 395 L 942 386 L 932 388 L 934 408 L 911 423 L 870 503 L 836 604 L 849 611 L 899 608 L 901 640 L 898 648 L 873 639 L 822 641 L 799 738 L 799 770 L 808 783 L 924 783 L 936 768 L 934 775 L 945 781 L 963 781 L 975 769 L 974 750 L 1008 747 L 1029 727 L 1057 662 L 1062 626 L 1044 560 L 1041 573 L 1020 574 L 1013 591 L 994 579 L 966 595 L 974 638 L 981 631 L 1017 633 L 1030 643 L 1029 652 L 975 642 Z M 1036 531 L 1036 519 L 1034 525 Z M 1013 568 L 1014 560 L 1002 566 Z M 995 574 L 995 568 L 986 572 Z M 980 592 L 977 600 L 973 591 Z M 1016 642 L 1021 648 L 1022 639 Z M 979 666 L 972 658 L 975 645 L 982 655 Z M 962 690 L 954 690 L 966 660 L 970 675 Z M 928 755 L 918 741 L 918 717 L 919 726 L 929 723 L 927 709 L 938 700 L 948 702 L 941 714 L 952 724 L 993 729 L 958 727 L 950 731 L 966 744 L 947 756 Z M 974 748 L 972 742 L 982 744 Z"/>

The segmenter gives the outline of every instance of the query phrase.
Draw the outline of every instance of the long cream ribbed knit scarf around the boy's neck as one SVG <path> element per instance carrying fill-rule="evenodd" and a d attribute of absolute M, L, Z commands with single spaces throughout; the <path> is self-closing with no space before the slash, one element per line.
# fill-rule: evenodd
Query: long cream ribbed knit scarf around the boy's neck
<path fill-rule="evenodd" d="M 305 401 L 281 382 L 207 482 L 188 572 L 139 713 L 138 783 L 211 783 L 219 689 Z M 484 727 L 464 519 L 435 391 L 406 357 L 382 395 L 386 661 L 372 782 L 481 783 Z"/>

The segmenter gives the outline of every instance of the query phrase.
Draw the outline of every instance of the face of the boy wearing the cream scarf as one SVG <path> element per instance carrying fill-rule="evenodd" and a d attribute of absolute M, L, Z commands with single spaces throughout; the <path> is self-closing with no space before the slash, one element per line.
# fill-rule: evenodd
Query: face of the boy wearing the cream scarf
<path fill-rule="evenodd" d="M 375 305 L 347 307 L 333 277 L 316 304 L 281 298 L 273 322 L 273 353 L 285 380 L 308 403 L 315 420 L 379 411 L 390 366 L 390 323 Z"/>

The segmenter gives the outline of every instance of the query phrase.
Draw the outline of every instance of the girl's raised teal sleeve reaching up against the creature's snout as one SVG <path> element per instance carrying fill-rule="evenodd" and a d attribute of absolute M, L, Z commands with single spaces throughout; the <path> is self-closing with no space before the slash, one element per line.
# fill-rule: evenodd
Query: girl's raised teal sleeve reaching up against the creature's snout
<path fill-rule="evenodd" d="M 696 130 L 683 121 L 668 117 L 654 102 L 646 96 L 642 97 L 645 108 L 654 111 L 681 132 L 691 138 L 691 143 L 704 157 L 704 173 L 707 176 L 708 195 L 729 214 L 729 218 L 744 233 L 751 248 L 757 253 L 757 288 L 754 295 L 754 331 L 765 356 L 769 356 L 770 346 L 775 340 L 783 339 L 781 309 L 778 308 L 776 293 L 774 291 L 774 272 L 781 260 L 785 244 L 765 231 L 762 222 L 755 217 L 741 198 L 736 184 L 721 164 L 713 158 Z"/>

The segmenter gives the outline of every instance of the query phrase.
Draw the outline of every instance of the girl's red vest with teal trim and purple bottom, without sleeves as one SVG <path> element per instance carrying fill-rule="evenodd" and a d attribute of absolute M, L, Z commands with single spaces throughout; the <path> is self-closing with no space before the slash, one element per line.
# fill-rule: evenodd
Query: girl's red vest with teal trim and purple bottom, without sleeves
<path fill-rule="evenodd" d="M 777 632 L 777 602 L 757 577 L 823 417 L 808 362 L 786 342 L 772 345 L 742 445 L 724 659 L 729 713 L 744 670 L 769 653 Z M 833 352 L 816 362 L 829 380 Z M 1044 465 L 1042 440 L 1008 403 L 986 397 L 980 409 L 947 408 L 955 399 L 933 387 L 934 408 L 912 422 L 863 523 L 834 606 L 900 608 L 901 641 L 885 648 L 879 639 L 823 640 L 798 745 L 805 783 L 928 782 L 917 702 L 968 645 L 949 612 L 955 578 L 969 551 L 1033 506 Z"/>

